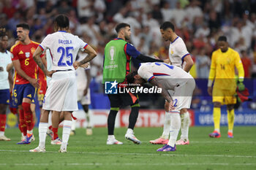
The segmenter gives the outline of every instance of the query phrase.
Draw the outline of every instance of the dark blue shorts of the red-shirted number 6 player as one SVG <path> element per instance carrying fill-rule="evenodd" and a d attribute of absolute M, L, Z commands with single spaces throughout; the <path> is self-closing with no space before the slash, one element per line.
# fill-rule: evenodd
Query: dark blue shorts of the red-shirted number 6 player
<path fill-rule="evenodd" d="M 23 98 L 29 98 L 31 101 L 34 99 L 35 88 L 33 85 L 24 84 L 24 85 L 14 85 L 12 90 L 12 105 L 18 107 L 22 104 Z"/>

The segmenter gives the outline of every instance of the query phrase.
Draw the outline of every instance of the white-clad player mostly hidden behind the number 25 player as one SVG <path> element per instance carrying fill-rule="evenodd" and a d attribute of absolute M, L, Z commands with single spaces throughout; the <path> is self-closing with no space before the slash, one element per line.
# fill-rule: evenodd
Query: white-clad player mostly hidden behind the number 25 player
<path fill-rule="evenodd" d="M 77 61 L 82 61 L 84 58 L 86 58 L 86 53 L 79 53 Z M 89 114 L 89 104 L 91 104 L 89 87 L 91 82 L 90 66 L 86 69 L 81 67 L 76 69 L 75 77 L 78 84 L 78 101 L 80 101 L 80 104 L 82 104 L 83 111 L 86 112 L 86 135 L 92 135 L 91 116 Z M 72 120 L 70 135 L 75 135 L 75 120 Z"/>

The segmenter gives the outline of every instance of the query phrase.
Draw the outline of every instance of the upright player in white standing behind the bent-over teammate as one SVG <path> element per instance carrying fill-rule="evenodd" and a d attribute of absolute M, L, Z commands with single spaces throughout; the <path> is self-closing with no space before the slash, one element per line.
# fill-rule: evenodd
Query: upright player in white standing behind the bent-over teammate
<path fill-rule="evenodd" d="M 189 72 L 193 66 L 193 61 L 187 47 L 181 37 L 175 33 L 175 28 L 172 23 L 165 22 L 160 26 L 162 38 L 165 41 L 170 41 L 169 58 L 165 60 L 165 63 L 170 63 L 173 66 L 178 66 L 184 69 L 185 72 Z M 158 139 L 151 140 L 151 144 L 167 144 L 168 136 L 170 134 L 170 115 L 167 114 L 168 105 L 165 103 L 165 122 L 162 136 Z M 176 144 L 189 144 L 189 112 L 187 108 L 181 108 L 181 139 Z"/>

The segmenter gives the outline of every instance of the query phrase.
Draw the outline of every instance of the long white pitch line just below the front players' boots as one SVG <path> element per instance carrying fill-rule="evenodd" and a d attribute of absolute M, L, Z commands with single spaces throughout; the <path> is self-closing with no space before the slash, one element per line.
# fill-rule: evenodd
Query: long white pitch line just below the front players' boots
<path fill-rule="evenodd" d="M 29 150 L 0 150 L 0 152 L 29 152 Z M 48 153 L 56 153 L 53 151 L 46 151 Z M 176 154 L 176 152 L 170 152 L 170 154 L 161 152 L 157 153 L 127 153 L 127 152 L 68 152 L 68 153 L 82 153 L 82 154 L 93 154 L 93 155 L 155 155 L 155 156 L 181 156 L 181 157 L 227 157 L 227 158 L 256 158 L 254 155 L 189 155 L 189 154 Z"/>

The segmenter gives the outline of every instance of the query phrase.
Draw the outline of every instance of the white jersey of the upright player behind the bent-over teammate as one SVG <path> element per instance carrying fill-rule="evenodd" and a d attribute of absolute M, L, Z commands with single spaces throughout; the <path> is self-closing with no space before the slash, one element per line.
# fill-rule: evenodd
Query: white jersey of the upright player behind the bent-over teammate
<path fill-rule="evenodd" d="M 183 69 L 185 66 L 184 58 L 189 55 L 187 47 L 181 37 L 177 37 L 173 42 L 170 43 L 169 47 L 169 58 L 173 66 L 178 66 Z"/>

